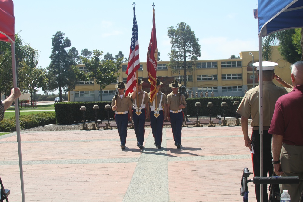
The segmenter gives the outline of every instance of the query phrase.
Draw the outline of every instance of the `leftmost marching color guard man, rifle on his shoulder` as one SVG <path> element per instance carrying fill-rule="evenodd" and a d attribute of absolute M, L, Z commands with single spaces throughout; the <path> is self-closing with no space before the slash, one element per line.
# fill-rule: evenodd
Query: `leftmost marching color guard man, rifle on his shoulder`
<path fill-rule="evenodd" d="M 125 149 L 126 136 L 127 136 L 127 125 L 128 121 L 132 121 L 132 100 L 129 96 L 124 93 L 125 85 L 123 82 L 118 82 L 115 85 L 118 89 L 119 94 L 115 95 L 112 99 L 112 111 L 115 113 L 115 121 L 117 124 L 118 133 L 120 136 L 120 147 Z"/>

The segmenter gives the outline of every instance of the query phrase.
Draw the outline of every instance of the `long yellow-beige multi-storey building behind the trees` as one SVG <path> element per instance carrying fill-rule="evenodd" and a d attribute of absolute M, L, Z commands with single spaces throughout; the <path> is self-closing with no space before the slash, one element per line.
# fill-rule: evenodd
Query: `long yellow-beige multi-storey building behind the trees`
<path fill-rule="evenodd" d="M 290 64 L 281 58 L 277 48 L 278 46 L 273 47 L 271 57 L 272 62 L 278 63 L 275 73 L 291 84 Z M 198 93 L 198 97 L 200 97 L 201 92 L 203 92 L 204 96 L 205 92 L 208 92 L 209 96 L 211 92 L 215 96 L 243 96 L 245 90 L 253 88 L 252 55 L 249 53 L 254 56 L 254 62 L 259 61 L 258 51 L 240 52 L 239 59 L 198 60 L 194 71 L 187 72 L 187 91 L 189 93 L 193 91 L 194 97 L 196 92 Z M 168 63 L 169 61 L 158 62 L 157 78 L 174 77 L 178 81 L 181 79 L 181 84 L 183 84 L 183 68 L 180 69 L 180 73 L 172 73 L 171 68 L 166 66 Z M 121 66 L 119 80 L 126 83 L 127 75 L 125 71 L 127 63 L 122 63 Z M 78 67 L 82 71 L 88 71 L 84 65 L 78 65 Z M 148 78 L 146 62 L 140 62 L 138 77 L 140 79 Z M 281 86 L 275 80 L 274 83 Z M 255 74 L 255 86 L 257 85 L 258 79 Z M 102 93 L 102 101 L 111 101 L 115 90 L 115 83 L 110 84 L 100 92 L 100 86 L 93 79 L 86 82 L 79 81 L 76 84 L 75 90 L 69 93 L 70 101 L 100 101 L 100 93 Z"/>

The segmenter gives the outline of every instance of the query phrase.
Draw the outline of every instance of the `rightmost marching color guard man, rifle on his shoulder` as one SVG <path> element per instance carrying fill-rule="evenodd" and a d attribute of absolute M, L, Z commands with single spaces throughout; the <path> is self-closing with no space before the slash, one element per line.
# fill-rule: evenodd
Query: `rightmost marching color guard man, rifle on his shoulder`
<path fill-rule="evenodd" d="M 178 81 L 173 81 L 168 85 L 171 87 L 172 92 L 166 96 L 167 99 L 167 120 L 171 122 L 171 130 L 174 136 L 175 146 L 181 147 L 182 136 L 182 121 L 183 111 L 186 107 L 186 101 L 184 95 L 178 92 L 181 84 Z"/>

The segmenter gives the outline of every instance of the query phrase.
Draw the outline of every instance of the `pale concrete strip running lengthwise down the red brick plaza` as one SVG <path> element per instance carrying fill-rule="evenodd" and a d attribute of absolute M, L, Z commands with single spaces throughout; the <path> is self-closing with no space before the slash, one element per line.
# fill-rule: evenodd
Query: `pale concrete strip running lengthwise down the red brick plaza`
<path fill-rule="evenodd" d="M 162 140 L 166 140 L 165 129 Z M 150 131 L 145 147 L 123 198 L 124 202 L 168 201 L 167 156 L 166 150 L 163 149 L 166 148 L 166 141 L 162 141 L 162 148 L 157 149 Z"/>

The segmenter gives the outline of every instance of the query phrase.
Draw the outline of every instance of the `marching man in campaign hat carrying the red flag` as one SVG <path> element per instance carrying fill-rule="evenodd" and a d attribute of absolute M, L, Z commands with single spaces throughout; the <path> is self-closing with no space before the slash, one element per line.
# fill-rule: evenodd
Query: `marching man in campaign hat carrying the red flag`
<path fill-rule="evenodd" d="M 151 106 L 149 114 L 151 120 L 151 131 L 155 139 L 155 146 L 158 149 L 161 149 L 162 144 L 163 121 L 167 118 L 166 95 L 160 91 L 160 86 L 162 84 L 163 83 L 157 79 L 156 88 L 158 93 L 156 98 L 152 102 L 149 102 L 149 105 Z M 148 98 L 150 99 L 150 93 L 148 93 Z"/>

